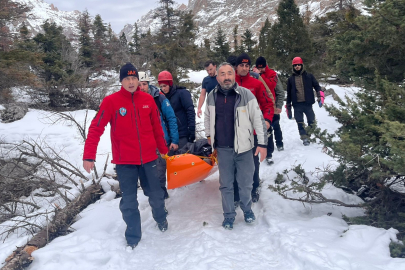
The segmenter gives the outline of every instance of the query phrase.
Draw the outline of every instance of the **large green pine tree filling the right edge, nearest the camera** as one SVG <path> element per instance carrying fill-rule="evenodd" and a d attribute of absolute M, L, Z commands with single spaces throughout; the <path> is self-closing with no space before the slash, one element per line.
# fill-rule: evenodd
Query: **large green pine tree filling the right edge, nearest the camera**
<path fill-rule="evenodd" d="M 366 16 L 352 8 L 334 14 L 328 54 L 336 53 L 339 76 L 346 71 L 361 89 L 326 107 L 340 124 L 335 136 L 315 135 L 339 162 L 324 179 L 364 200 L 366 215 L 350 222 L 393 227 L 405 240 L 405 1 L 369 4 Z M 395 255 L 404 257 L 405 247 Z"/>

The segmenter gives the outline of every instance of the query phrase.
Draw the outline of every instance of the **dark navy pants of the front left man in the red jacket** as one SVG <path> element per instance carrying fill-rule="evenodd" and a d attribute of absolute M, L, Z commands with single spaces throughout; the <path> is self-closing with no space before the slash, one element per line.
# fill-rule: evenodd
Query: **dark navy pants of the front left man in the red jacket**
<path fill-rule="evenodd" d="M 138 244 L 142 237 L 141 215 L 138 209 L 138 177 L 145 196 L 149 197 L 153 219 L 161 223 L 166 219 L 163 190 L 157 176 L 156 161 L 143 165 L 116 166 L 118 181 L 122 192 L 120 210 L 127 224 L 125 238 L 129 245 Z"/>

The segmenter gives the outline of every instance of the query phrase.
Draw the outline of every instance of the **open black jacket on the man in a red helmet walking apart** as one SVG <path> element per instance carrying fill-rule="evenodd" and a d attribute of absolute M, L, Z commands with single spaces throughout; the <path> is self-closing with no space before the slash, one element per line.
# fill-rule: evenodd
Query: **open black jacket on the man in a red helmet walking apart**
<path fill-rule="evenodd" d="M 297 104 L 297 88 L 295 86 L 295 76 L 298 75 L 294 73 L 290 78 L 288 78 L 287 81 L 287 105 L 292 103 L 292 105 L 294 106 L 295 104 Z M 321 87 L 319 86 L 319 83 L 315 79 L 314 75 L 312 75 L 311 73 L 307 73 L 305 70 L 302 73 L 302 81 L 304 84 L 305 103 L 312 105 L 315 103 L 313 88 L 318 93 L 319 91 L 321 91 Z"/>

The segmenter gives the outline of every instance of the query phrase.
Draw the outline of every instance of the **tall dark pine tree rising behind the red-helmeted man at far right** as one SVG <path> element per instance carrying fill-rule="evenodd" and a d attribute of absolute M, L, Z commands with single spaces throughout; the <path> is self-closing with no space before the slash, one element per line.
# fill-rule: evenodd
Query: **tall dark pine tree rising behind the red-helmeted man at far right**
<path fill-rule="evenodd" d="M 308 31 L 294 0 L 282 0 L 277 9 L 278 21 L 271 28 L 269 61 L 284 77 L 291 75 L 291 61 L 300 56 L 311 66 L 313 49 Z"/>

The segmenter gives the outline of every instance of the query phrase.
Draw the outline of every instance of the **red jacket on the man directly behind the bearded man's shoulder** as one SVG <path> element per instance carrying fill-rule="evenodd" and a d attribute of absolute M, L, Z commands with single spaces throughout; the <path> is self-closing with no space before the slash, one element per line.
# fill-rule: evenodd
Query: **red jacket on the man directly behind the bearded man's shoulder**
<path fill-rule="evenodd" d="M 263 83 L 251 77 L 249 73 L 245 77 L 241 77 L 236 74 L 235 80 L 238 85 L 252 91 L 253 95 L 255 95 L 257 99 L 257 102 L 259 103 L 264 119 L 271 123 L 274 115 L 274 103 L 273 100 L 267 95 L 267 91 Z"/>

